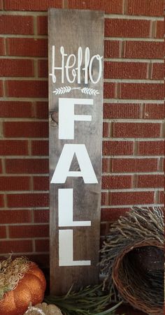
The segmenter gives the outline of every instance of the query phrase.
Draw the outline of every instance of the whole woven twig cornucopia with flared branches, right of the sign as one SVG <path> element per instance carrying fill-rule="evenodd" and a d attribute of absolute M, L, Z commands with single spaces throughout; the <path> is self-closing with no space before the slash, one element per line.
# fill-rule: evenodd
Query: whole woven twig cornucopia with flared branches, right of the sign
<path fill-rule="evenodd" d="M 164 314 L 164 213 L 138 208 L 113 224 L 101 249 L 104 286 L 147 314 Z"/>

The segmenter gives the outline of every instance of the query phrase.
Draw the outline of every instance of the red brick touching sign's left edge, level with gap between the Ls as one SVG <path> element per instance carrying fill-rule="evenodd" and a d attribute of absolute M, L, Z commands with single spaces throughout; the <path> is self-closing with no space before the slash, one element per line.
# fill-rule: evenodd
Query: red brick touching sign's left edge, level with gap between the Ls
<path fill-rule="evenodd" d="M 49 236 L 49 226 L 9 226 L 9 235 L 11 238 L 47 237 Z"/>

